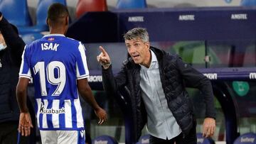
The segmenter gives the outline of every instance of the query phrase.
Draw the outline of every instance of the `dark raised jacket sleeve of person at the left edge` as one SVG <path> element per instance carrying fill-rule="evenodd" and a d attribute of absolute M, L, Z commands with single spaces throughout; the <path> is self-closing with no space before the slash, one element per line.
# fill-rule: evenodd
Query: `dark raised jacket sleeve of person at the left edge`
<path fill-rule="evenodd" d="M 0 21 L 0 31 L 4 36 L 7 48 L 11 51 L 11 58 L 16 65 L 21 65 L 21 55 L 25 46 L 23 40 L 19 37 L 18 33 L 14 31 L 11 24 L 2 18 Z"/>

